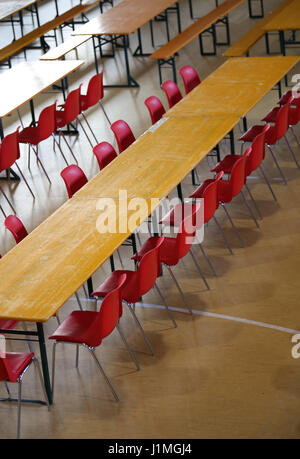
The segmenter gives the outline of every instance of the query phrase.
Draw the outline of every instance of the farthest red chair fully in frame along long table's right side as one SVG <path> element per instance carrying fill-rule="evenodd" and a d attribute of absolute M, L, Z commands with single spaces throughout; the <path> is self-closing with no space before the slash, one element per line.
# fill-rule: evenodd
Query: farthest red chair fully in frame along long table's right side
<path fill-rule="evenodd" d="M 287 184 L 287 180 L 281 170 L 281 167 L 279 166 L 279 163 L 276 159 L 276 156 L 275 154 L 273 153 L 273 150 L 271 148 L 272 145 L 275 145 L 278 140 L 280 140 L 282 137 L 284 137 L 287 145 L 288 145 L 288 148 L 294 158 L 294 161 L 296 162 L 297 166 L 300 167 L 300 165 L 298 164 L 297 162 L 297 159 L 295 157 L 295 154 L 293 152 L 293 150 L 291 149 L 290 147 L 290 144 L 287 140 L 287 137 L 286 137 L 286 132 L 288 130 L 288 113 L 289 113 L 289 107 L 290 107 L 290 104 L 292 102 L 292 98 L 290 98 L 288 100 L 288 102 L 285 104 L 285 105 L 282 105 L 280 107 L 280 109 L 278 110 L 277 112 L 277 115 L 276 115 L 276 119 L 275 119 L 275 124 L 273 126 L 270 126 L 270 129 L 268 130 L 268 132 L 266 132 L 266 135 L 265 135 L 265 143 L 272 155 L 272 158 L 276 164 L 276 167 L 285 183 L 285 185 Z M 266 116 L 264 118 L 264 121 L 266 121 L 268 123 L 268 116 Z M 260 125 L 255 125 L 255 126 L 252 126 L 247 132 L 245 132 L 245 134 L 243 134 L 239 140 L 241 140 L 242 142 L 253 142 L 253 140 L 255 139 L 255 137 L 258 136 L 258 134 L 260 134 L 263 129 L 264 129 L 264 125 L 260 126 Z"/>

